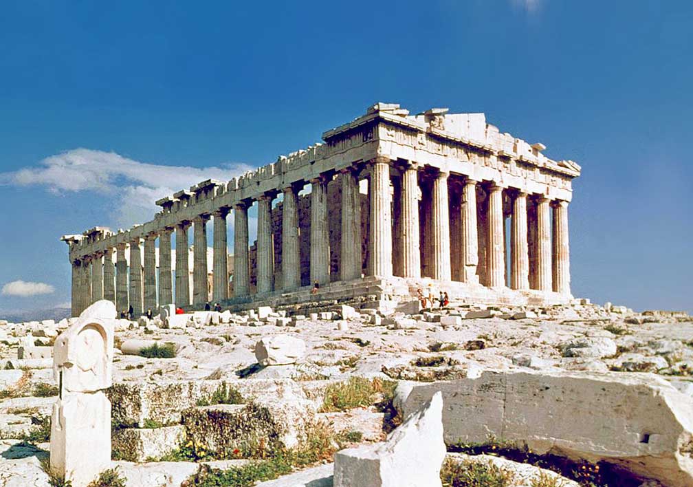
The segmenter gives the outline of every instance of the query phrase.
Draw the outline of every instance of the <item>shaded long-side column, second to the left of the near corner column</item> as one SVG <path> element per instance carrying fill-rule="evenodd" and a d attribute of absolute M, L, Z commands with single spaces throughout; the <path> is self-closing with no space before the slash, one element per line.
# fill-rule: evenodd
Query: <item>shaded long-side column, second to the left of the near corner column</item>
<path fill-rule="evenodd" d="M 310 180 L 310 282 L 330 283 L 330 232 L 327 222 L 327 178 Z"/>

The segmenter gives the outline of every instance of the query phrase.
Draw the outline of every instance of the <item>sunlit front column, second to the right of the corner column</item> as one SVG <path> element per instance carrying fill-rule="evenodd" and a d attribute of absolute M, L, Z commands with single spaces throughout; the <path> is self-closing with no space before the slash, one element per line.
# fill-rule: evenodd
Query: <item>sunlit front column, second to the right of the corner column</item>
<path fill-rule="evenodd" d="M 433 180 L 431 223 L 433 278 L 449 281 L 450 271 L 450 206 L 448 203 L 448 175 L 440 171 Z"/>

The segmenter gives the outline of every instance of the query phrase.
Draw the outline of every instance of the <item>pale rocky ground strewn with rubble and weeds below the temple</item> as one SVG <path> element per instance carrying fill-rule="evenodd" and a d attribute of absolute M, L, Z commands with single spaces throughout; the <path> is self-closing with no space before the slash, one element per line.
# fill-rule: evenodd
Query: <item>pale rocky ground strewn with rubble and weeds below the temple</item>
<path fill-rule="evenodd" d="M 604 373 L 614 382 L 650 373 L 658 387 L 654 375 L 676 388 L 677 400 L 693 395 L 693 318 L 685 314 L 589 304 L 415 314 L 386 303 L 325 309 L 118 321 L 108 395 L 114 465 L 127 485 L 193 485 L 187 479 L 196 476 L 197 485 L 331 486 L 335 451 L 383 441 L 401 422 L 397 384 L 475 378 L 484 370 Z M 0 487 L 49 485 L 41 462 L 57 387 L 48 345 L 67 325 L 0 322 Z M 172 357 L 150 358 L 156 355 Z M 444 477 L 444 485 L 645 482 L 608 483 L 598 472 L 602 463 L 558 468 L 519 449 L 495 438 L 448 445 L 444 470 L 472 480 Z M 242 480 L 224 473 L 261 464 L 271 472 Z M 474 484 L 475 475 L 493 481 Z"/>

